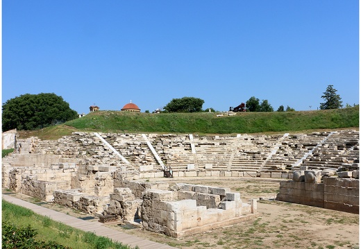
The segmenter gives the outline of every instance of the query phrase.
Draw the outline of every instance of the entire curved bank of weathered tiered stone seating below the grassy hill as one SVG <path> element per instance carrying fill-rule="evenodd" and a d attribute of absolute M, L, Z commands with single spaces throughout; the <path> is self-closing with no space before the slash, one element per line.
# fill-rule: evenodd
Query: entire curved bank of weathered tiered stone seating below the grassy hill
<path fill-rule="evenodd" d="M 195 135 L 192 140 L 190 135 L 184 134 L 100 135 L 130 164 L 125 165 L 119 155 L 94 133 L 74 132 L 56 141 L 32 138 L 28 143 L 31 146 L 23 147 L 23 150 L 33 155 L 59 155 L 63 160 L 74 160 L 72 162 L 81 162 L 85 166 L 106 164 L 136 171 L 162 170 L 147 141 L 162 163 L 171 166 L 173 171 L 192 171 L 192 164 L 194 171 L 280 171 L 285 168 L 295 170 L 300 166 L 337 169 L 359 160 L 359 132 L 355 130 L 288 136 Z M 24 146 L 27 146 L 26 142 Z M 12 159 L 12 163 L 15 161 Z M 192 169 L 187 168 L 189 165 Z"/>

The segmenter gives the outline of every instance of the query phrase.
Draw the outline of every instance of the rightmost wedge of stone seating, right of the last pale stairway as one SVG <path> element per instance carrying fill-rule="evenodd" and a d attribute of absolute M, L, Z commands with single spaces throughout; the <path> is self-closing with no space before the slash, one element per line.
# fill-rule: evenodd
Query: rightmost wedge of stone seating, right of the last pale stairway
<path fill-rule="evenodd" d="M 338 169 L 359 159 L 359 133 L 355 130 L 335 132 L 325 144 L 314 149 L 303 166 L 309 169 Z"/>

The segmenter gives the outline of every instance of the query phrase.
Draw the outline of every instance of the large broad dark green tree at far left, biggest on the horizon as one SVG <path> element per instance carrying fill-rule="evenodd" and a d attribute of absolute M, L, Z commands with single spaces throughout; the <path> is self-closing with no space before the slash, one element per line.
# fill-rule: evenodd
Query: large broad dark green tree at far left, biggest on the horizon
<path fill-rule="evenodd" d="M 35 130 L 78 118 L 61 96 L 24 94 L 3 104 L 3 130 Z"/>

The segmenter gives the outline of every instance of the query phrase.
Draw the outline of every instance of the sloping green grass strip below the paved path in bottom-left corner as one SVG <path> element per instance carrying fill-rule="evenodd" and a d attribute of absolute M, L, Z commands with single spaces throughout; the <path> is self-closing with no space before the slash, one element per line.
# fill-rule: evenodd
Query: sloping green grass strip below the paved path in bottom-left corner
<path fill-rule="evenodd" d="M 32 210 L 2 201 L 2 221 L 14 227 L 30 226 L 37 232 L 36 241 L 54 241 L 69 248 L 114 248 L 129 249 L 129 246 L 115 243 L 92 232 L 83 232 L 64 223 L 53 221 L 47 216 L 35 214 Z M 4 223 L 3 223 L 4 225 Z"/>

